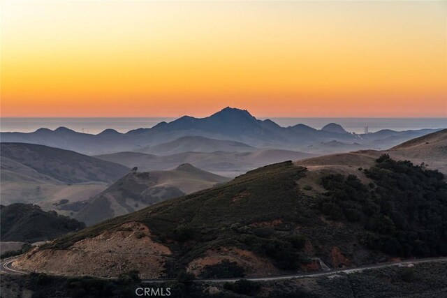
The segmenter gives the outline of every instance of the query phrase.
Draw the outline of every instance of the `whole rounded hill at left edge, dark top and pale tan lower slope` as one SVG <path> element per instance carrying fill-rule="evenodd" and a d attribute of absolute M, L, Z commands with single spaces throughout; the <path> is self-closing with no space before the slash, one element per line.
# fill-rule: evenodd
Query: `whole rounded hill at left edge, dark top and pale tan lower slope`
<path fill-rule="evenodd" d="M 1 143 L 1 202 L 39 204 L 44 210 L 73 215 L 78 204 L 129 173 L 128 167 L 64 149 Z M 68 200 L 64 208 L 59 201 Z"/>

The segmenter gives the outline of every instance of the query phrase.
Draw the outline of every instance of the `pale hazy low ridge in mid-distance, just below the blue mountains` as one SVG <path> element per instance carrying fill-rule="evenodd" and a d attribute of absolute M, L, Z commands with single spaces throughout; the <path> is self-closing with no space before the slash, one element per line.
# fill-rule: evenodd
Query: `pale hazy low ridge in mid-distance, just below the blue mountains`
<path fill-rule="evenodd" d="M 249 152 L 184 152 L 169 156 L 155 156 L 140 152 L 119 152 L 95 157 L 129 167 L 138 167 L 143 171 L 168 170 L 182 163 L 190 163 L 209 172 L 235 177 L 264 165 L 311 156 L 314 155 L 300 151 L 256 149 Z"/>

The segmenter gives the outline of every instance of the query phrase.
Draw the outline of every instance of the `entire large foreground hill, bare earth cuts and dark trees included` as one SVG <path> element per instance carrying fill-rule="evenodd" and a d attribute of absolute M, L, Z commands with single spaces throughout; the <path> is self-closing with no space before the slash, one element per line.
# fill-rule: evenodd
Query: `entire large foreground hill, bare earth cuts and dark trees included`
<path fill-rule="evenodd" d="M 57 239 L 15 266 L 93 276 L 135 269 L 144 278 L 186 269 L 206 278 L 447 254 L 443 174 L 386 154 L 341 158 L 326 158 L 327 171 L 318 158 L 261 167 Z"/>

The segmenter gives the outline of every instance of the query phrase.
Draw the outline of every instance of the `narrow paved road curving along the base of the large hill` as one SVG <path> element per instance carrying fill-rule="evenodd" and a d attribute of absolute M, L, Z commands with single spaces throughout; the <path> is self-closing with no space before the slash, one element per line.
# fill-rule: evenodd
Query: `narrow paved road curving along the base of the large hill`
<path fill-rule="evenodd" d="M 13 262 L 18 257 L 20 257 L 20 256 L 9 258 L 7 260 L 2 260 L 1 268 L 0 268 L 2 273 L 27 274 L 27 272 L 20 271 L 18 269 L 14 269 L 12 267 Z M 249 281 L 281 281 L 281 280 L 295 279 L 295 278 L 330 276 L 330 275 L 335 275 L 335 274 L 349 274 L 349 273 L 353 273 L 353 272 L 360 272 L 360 271 L 367 270 L 367 269 L 376 269 L 376 268 L 384 268 L 384 267 L 392 267 L 392 266 L 403 266 L 403 265 L 409 265 L 409 264 L 428 263 L 428 262 L 447 262 L 447 257 L 413 259 L 413 260 L 404 260 L 402 262 L 381 263 L 381 264 L 356 267 L 356 268 L 332 269 L 332 270 L 323 271 L 323 272 L 300 273 L 300 274 L 281 275 L 281 276 L 247 277 L 244 279 L 247 279 Z M 241 278 L 196 279 L 196 280 L 194 280 L 194 282 L 207 282 L 207 283 L 230 282 L 231 283 L 231 282 L 238 281 L 240 279 Z M 175 279 L 168 279 L 168 278 L 146 279 L 146 280 L 142 281 L 142 283 L 163 283 L 166 281 L 175 281 Z"/>

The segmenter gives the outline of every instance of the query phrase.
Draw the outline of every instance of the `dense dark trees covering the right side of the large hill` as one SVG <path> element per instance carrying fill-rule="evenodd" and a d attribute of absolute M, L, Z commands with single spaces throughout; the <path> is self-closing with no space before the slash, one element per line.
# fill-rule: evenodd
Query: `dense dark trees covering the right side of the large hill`
<path fill-rule="evenodd" d="M 361 223 L 363 243 L 402 257 L 447 253 L 447 184 L 440 172 L 384 154 L 363 170 L 374 183 L 354 175 L 323 177 L 328 192 L 319 208 L 336 221 Z"/>

